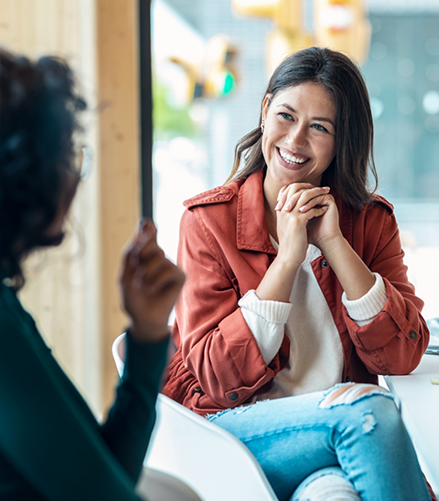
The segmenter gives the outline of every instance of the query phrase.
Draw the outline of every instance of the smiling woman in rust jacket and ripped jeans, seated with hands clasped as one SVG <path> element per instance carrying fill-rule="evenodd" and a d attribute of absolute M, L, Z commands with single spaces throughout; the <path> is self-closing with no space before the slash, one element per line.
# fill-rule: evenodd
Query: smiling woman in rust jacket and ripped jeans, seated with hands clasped
<path fill-rule="evenodd" d="M 260 110 L 230 182 L 185 202 L 164 393 L 242 440 L 281 501 L 427 500 L 375 386 L 412 371 L 429 333 L 392 206 L 367 185 L 363 78 L 343 54 L 306 49 L 276 69 Z M 334 475 L 338 491 L 309 495 Z"/>

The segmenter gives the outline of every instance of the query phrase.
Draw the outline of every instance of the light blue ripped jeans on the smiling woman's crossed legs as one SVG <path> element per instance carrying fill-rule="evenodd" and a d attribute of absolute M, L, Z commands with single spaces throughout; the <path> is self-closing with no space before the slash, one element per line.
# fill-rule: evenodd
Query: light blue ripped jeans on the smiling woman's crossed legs
<path fill-rule="evenodd" d="M 207 419 L 250 449 L 280 501 L 332 466 L 341 467 L 364 501 L 430 500 L 393 398 L 378 386 L 346 383 Z"/>

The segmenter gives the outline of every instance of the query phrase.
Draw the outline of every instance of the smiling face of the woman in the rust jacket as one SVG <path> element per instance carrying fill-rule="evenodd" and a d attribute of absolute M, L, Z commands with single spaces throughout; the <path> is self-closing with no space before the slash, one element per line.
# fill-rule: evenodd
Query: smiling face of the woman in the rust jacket
<path fill-rule="evenodd" d="M 335 156 L 335 115 L 335 104 L 320 84 L 289 87 L 270 103 L 266 96 L 262 109 L 266 190 L 277 195 L 292 183 L 320 186 Z"/>

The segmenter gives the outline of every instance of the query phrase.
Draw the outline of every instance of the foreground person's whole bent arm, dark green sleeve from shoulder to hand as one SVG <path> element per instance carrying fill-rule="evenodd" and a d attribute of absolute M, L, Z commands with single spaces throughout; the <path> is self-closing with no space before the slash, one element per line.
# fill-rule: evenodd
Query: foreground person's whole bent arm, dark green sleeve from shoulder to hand
<path fill-rule="evenodd" d="M 123 381 L 102 426 L 17 299 L 3 304 L 0 451 L 45 499 L 139 499 L 134 487 L 155 420 L 167 318 L 182 281 L 145 223 L 125 256 L 123 297 L 133 325 Z"/>

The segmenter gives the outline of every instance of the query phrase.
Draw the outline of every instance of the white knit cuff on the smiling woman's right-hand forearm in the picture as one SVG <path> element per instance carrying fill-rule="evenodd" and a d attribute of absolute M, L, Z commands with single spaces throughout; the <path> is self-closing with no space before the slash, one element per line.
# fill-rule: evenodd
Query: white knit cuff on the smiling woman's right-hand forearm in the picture
<path fill-rule="evenodd" d="M 359 299 L 350 301 L 346 297 L 346 292 L 342 294 L 344 304 L 349 317 L 359 326 L 369 324 L 382 311 L 387 301 L 386 286 L 379 273 L 374 273 L 375 284 Z"/>

